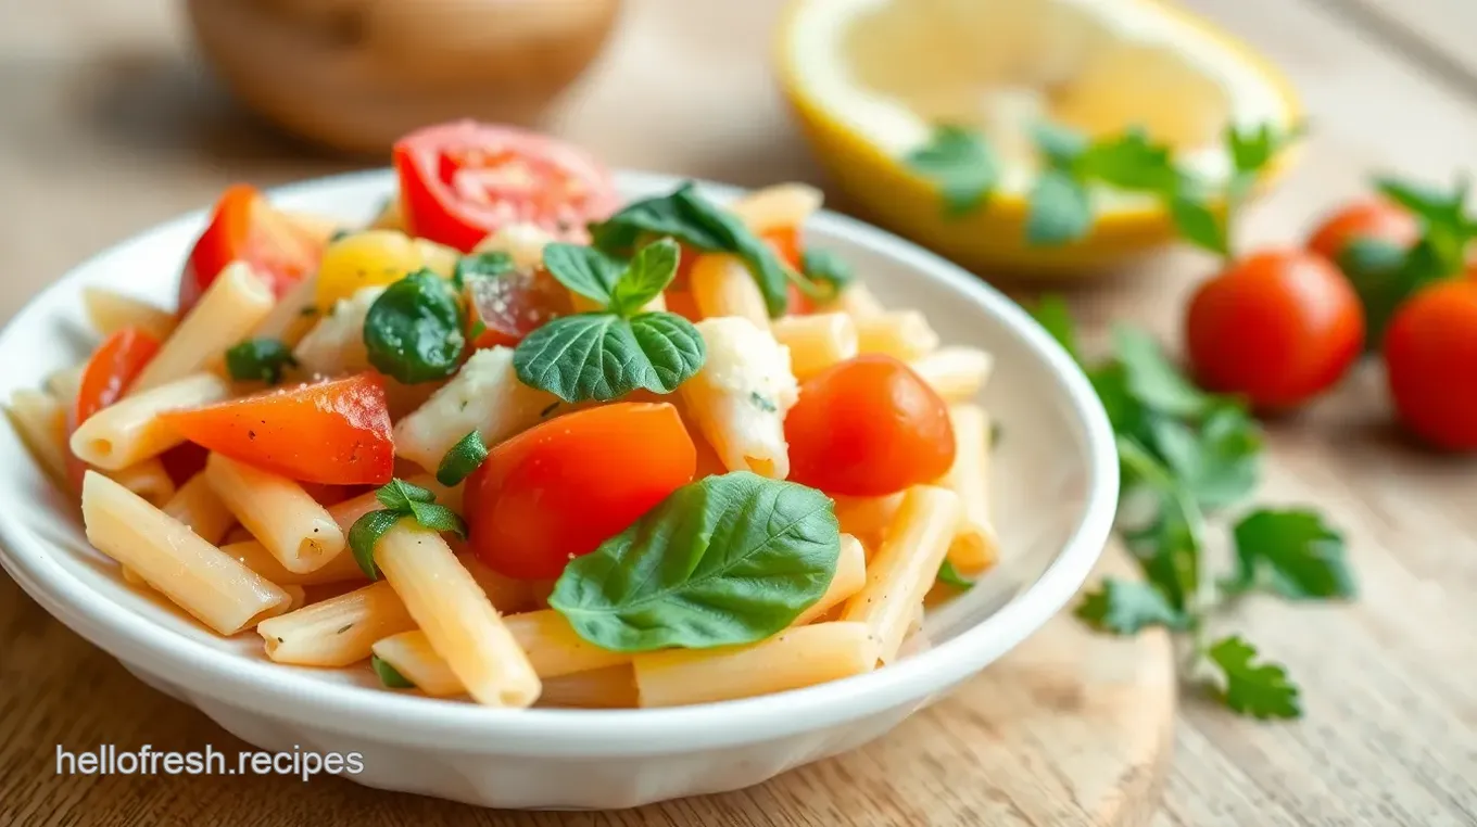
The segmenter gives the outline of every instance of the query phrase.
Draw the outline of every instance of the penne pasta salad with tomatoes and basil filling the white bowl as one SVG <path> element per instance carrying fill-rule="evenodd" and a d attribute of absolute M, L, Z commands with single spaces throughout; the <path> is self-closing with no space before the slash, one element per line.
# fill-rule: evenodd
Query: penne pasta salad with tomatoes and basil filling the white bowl
<path fill-rule="evenodd" d="M 128 583 L 276 663 L 656 707 L 886 666 L 993 566 L 991 357 L 805 244 L 817 191 L 622 205 L 474 123 L 394 168 L 366 227 L 227 189 L 177 307 L 89 289 L 12 397 Z"/>

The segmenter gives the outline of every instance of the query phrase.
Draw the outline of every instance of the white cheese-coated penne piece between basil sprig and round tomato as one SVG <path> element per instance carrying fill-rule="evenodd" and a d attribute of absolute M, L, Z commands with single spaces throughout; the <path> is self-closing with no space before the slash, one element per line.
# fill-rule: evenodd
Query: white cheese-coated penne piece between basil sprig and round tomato
<path fill-rule="evenodd" d="M 730 471 L 790 476 L 784 415 L 799 399 L 789 350 L 746 319 L 697 323 L 707 362 L 678 388 L 688 416 Z"/>

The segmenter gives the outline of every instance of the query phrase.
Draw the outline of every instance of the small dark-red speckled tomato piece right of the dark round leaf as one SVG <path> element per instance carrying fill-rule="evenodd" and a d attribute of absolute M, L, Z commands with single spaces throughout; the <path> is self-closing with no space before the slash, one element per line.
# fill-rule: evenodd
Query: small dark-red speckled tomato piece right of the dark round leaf
<path fill-rule="evenodd" d="M 569 291 L 548 270 L 508 270 L 467 284 L 473 347 L 513 347 L 545 322 L 573 310 Z"/>

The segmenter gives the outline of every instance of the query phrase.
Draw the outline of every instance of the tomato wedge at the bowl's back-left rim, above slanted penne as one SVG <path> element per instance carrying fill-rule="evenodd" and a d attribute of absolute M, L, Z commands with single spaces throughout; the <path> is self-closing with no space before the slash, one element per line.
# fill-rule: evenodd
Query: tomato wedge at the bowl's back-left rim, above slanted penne
<path fill-rule="evenodd" d="M 256 188 L 232 185 L 216 202 L 210 226 L 199 235 L 185 263 L 185 273 L 180 276 L 180 315 L 199 301 L 205 288 L 232 261 L 251 264 L 281 298 L 303 276 L 318 269 L 322 255 L 323 241 L 318 233 L 297 226 Z"/>

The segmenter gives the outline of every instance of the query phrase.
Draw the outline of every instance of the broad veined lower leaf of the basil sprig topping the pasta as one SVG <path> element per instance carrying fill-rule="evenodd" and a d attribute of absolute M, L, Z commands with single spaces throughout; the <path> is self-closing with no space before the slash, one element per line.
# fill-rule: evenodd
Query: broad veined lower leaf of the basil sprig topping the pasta
<path fill-rule="evenodd" d="M 563 316 L 513 351 L 518 380 L 564 402 L 610 402 L 637 390 L 672 393 L 702 366 L 702 334 L 675 313 Z"/>

